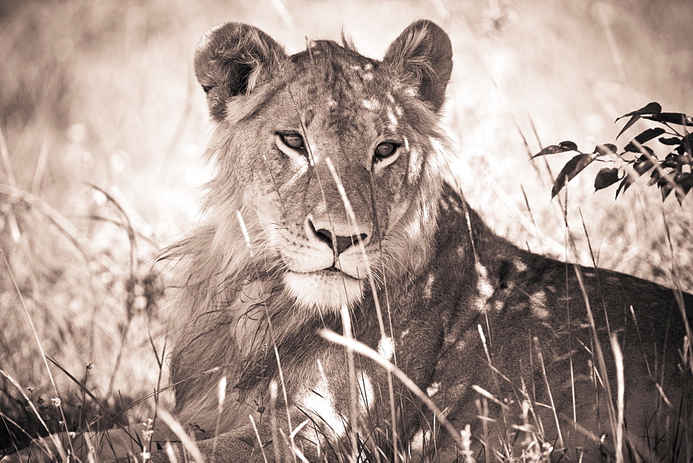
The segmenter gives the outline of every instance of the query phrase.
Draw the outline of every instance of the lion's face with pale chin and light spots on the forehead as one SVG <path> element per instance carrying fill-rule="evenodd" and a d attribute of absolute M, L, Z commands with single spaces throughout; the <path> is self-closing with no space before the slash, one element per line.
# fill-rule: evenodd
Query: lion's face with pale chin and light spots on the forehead
<path fill-rule="evenodd" d="M 299 305 L 351 306 L 386 269 L 415 270 L 407 254 L 414 243 L 426 246 L 443 155 L 441 96 L 422 97 L 428 68 L 406 69 L 407 56 L 392 50 L 397 42 L 383 62 L 334 42 L 290 57 L 263 49 L 272 65 L 236 71 L 247 80 L 234 96 L 218 82 L 229 78 L 229 63 L 208 55 L 218 55 L 218 42 L 237 28 L 212 30 L 195 63 L 218 124 L 213 188 L 243 183 L 228 189 L 243 192 L 243 220 L 260 236 L 258 258 L 272 263 Z M 398 40 L 411 40 L 406 34 Z M 415 51 L 429 50 L 419 43 Z"/>

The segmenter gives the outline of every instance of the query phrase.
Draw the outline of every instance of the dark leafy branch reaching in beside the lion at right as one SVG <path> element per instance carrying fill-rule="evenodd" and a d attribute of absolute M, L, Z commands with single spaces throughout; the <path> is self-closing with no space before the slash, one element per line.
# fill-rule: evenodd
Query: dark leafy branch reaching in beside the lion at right
<path fill-rule="evenodd" d="M 630 117 L 630 119 L 616 138 L 641 118 L 655 121 L 662 127 L 644 130 L 631 139 L 620 152 L 613 143 L 597 145 L 593 152 L 582 152 L 573 141 L 561 141 L 558 145 L 547 146 L 532 156 L 534 159 L 559 152 L 579 153 L 563 166 L 556 177 L 551 189 L 552 198 L 563 189 L 567 182 L 597 161 L 611 164 L 611 166 L 604 167 L 597 173 L 595 191 L 621 182 L 616 189 L 615 197 L 618 198 L 619 193 L 625 192 L 635 180 L 651 171 L 647 186 L 656 184 L 662 193 L 662 200 L 674 191 L 678 203 L 683 203 L 683 199 L 693 188 L 693 135 L 688 132 L 688 128 L 693 126 L 693 117 L 680 112 L 662 112 L 662 106 L 656 102 L 649 103 L 640 110 L 624 114 L 616 121 L 624 117 Z M 659 159 L 654 150 L 645 145 L 654 139 L 669 150 L 669 154 L 664 159 Z"/>

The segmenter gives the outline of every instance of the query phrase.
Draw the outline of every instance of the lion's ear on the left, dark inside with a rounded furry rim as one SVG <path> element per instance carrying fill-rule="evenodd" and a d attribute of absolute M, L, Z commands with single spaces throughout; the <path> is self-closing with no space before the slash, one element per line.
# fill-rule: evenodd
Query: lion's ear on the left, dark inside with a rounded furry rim
<path fill-rule="evenodd" d="M 224 119 L 229 98 L 249 94 L 272 78 L 284 58 L 281 45 L 249 24 L 227 22 L 207 31 L 195 51 L 195 76 L 207 93 L 212 118 Z"/>

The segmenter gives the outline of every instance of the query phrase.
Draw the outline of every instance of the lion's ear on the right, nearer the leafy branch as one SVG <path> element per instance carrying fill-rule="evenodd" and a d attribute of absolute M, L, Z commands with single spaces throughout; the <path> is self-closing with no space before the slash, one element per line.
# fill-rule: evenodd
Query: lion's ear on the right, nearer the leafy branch
<path fill-rule="evenodd" d="M 383 64 L 419 85 L 419 96 L 439 112 L 453 71 L 453 46 L 437 24 L 423 19 L 410 24 L 387 49 Z"/>

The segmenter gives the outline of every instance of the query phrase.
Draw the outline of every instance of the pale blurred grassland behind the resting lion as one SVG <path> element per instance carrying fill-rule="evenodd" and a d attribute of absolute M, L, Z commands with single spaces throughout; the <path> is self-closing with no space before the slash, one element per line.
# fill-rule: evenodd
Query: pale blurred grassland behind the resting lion
<path fill-rule="evenodd" d="M 451 162 L 489 225 L 586 265 L 589 237 L 599 266 L 692 290 L 691 198 L 663 203 L 641 179 L 615 201 L 615 185 L 594 193 L 604 165 L 593 165 L 565 207 L 550 191 L 571 155 L 529 160 L 565 139 L 587 152 L 613 142 L 615 118 L 650 101 L 692 113 L 692 11 L 687 0 L 0 0 L 1 416 L 35 431 L 26 394 L 58 430 L 52 397 L 70 427 L 166 385 L 154 258 L 199 217 L 209 123 L 192 57 L 224 21 L 254 24 L 290 53 L 343 29 L 382 58 L 410 22 L 432 19 L 455 51 Z M 6 423 L 0 448 L 21 439 Z"/>

